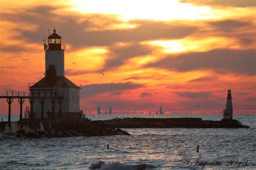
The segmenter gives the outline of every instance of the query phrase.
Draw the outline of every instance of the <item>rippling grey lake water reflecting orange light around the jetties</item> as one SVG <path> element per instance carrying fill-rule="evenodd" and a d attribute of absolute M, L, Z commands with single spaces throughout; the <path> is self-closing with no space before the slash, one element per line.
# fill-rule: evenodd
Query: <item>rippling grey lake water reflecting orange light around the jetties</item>
<path fill-rule="evenodd" d="M 221 115 L 86 115 L 95 119 L 114 117 L 202 117 L 220 120 Z M 6 118 L 0 116 L 0 118 Z M 13 120 L 18 116 L 13 116 Z M 256 168 L 255 115 L 234 115 L 250 129 L 123 129 L 131 136 L 70 137 L 25 139 L 0 134 L 0 168 L 82 168 L 139 169 L 152 165 L 157 169 L 181 166 L 185 159 L 224 162 L 207 168 Z M 106 145 L 110 145 L 110 150 Z M 200 145 L 199 153 L 196 152 Z M 235 166 L 228 160 L 238 161 Z M 243 160 L 243 161 L 242 161 Z M 245 161 L 248 160 L 246 166 Z M 102 166 L 100 161 L 104 163 Z M 239 162 L 242 161 L 240 166 Z M 233 162 L 234 164 L 235 162 Z M 98 165 L 98 166 L 97 166 Z M 133 166 L 137 165 L 137 166 Z M 150 169 L 150 167 L 147 167 Z M 191 166 L 186 168 L 202 168 Z"/>

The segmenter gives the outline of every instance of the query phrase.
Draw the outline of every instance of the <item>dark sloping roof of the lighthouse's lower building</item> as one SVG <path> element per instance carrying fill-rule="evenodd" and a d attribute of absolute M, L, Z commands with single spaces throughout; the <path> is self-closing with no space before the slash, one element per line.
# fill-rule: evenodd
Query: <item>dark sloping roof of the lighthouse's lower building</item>
<path fill-rule="evenodd" d="M 67 79 L 65 76 L 56 76 L 56 83 L 60 82 L 60 87 L 73 87 L 73 88 L 79 88 L 76 86 L 76 84 L 72 83 L 69 79 Z M 54 86 L 55 86 L 54 85 Z M 39 88 L 39 87 L 52 87 L 48 86 L 46 84 L 46 77 L 43 77 L 43 79 L 39 80 L 37 83 L 35 83 L 33 86 L 30 88 Z"/>

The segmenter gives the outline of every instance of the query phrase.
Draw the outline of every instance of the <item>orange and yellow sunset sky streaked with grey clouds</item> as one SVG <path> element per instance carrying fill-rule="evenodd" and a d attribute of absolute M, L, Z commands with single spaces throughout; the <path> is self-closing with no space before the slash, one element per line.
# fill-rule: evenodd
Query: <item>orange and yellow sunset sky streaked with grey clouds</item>
<path fill-rule="evenodd" d="M 231 89 L 234 113 L 255 114 L 255 11 L 254 0 L 0 0 L 0 91 L 44 77 L 43 39 L 56 29 L 84 113 L 219 114 Z"/>

